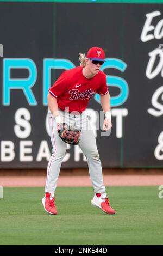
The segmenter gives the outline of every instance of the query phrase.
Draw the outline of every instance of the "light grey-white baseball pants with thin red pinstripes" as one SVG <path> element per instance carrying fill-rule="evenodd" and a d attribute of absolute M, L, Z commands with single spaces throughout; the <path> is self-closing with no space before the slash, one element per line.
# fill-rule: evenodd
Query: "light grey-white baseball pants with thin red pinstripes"
<path fill-rule="evenodd" d="M 70 125 L 70 127 L 76 127 L 81 130 L 79 147 L 82 149 L 84 155 L 87 158 L 89 167 L 89 174 L 95 193 L 105 192 L 105 186 L 103 184 L 103 174 L 101 160 L 96 145 L 96 138 L 91 129 L 89 120 L 85 112 L 81 115 L 73 115 L 66 111 L 61 111 L 61 118 L 64 123 Z M 48 108 L 48 122 L 50 128 L 51 141 L 53 145 L 53 151 L 51 159 L 47 166 L 47 179 L 45 192 L 51 193 L 54 196 L 55 189 L 57 187 L 57 180 L 60 173 L 60 167 L 62 160 L 64 159 L 67 143 L 63 142 L 57 132 L 57 125 L 55 119 L 52 117 L 51 111 Z M 73 145 L 71 146 L 73 147 Z"/>

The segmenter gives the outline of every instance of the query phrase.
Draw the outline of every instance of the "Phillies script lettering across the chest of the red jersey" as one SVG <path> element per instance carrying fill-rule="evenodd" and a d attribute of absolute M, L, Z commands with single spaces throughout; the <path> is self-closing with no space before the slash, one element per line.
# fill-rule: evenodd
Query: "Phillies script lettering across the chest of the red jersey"
<path fill-rule="evenodd" d="M 86 100 L 90 99 L 96 92 L 93 92 L 91 89 L 86 90 L 85 92 L 79 92 L 77 89 L 72 89 L 69 93 L 71 94 L 69 100 Z"/>

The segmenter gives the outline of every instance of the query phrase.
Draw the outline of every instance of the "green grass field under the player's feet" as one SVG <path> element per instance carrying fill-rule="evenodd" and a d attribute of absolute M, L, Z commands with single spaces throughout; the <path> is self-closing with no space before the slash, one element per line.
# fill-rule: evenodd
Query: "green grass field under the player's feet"
<path fill-rule="evenodd" d="M 43 188 L 4 188 L 1 245 L 162 245 L 158 187 L 107 188 L 115 215 L 91 206 L 91 187 L 58 187 L 58 215 L 43 210 Z"/>

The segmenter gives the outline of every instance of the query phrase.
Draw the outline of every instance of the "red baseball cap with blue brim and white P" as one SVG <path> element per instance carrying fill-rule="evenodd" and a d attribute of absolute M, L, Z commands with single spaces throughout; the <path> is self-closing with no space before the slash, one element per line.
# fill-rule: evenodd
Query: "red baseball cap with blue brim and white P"
<path fill-rule="evenodd" d="M 92 47 L 87 52 L 86 58 L 90 60 L 99 60 L 101 62 L 105 61 L 105 52 L 102 48 Z"/>

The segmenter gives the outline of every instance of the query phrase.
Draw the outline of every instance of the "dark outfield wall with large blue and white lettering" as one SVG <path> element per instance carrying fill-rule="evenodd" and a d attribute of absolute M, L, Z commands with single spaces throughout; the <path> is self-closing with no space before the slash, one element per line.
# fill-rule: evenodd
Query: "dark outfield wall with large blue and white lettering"
<path fill-rule="evenodd" d="M 92 46 L 105 50 L 111 95 L 111 135 L 95 129 L 103 167 L 162 168 L 163 4 L 58 2 L 0 1 L 0 168 L 47 166 L 47 89 Z M 97 94 L 87 109 L 95 128 L 96 111 Z M 87 167 L 78 146 L 62 167 Z"/>

